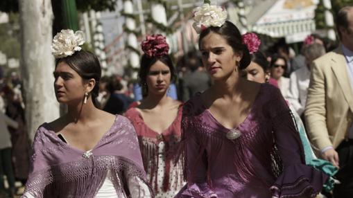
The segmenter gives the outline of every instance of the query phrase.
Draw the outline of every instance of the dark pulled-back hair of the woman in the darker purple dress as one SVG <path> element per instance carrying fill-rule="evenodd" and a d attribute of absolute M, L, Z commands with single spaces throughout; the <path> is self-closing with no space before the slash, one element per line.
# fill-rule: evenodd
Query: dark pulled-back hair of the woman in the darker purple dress
<path fill-rule="evenodd" d="M 225 21 L 221 27 L 211 26 L 200 33 L 200 38 L 198 39 L 199 48 L 203 37 L 207 36 L 211 32 L 221 35 L 227 41 L 227 44 L 232 46 L 234 52 L 241 52 L 243 54 L 239 69 L 246 69 L 246 67 L 250 64 L 250 53 L 248 46 L 243 44 L 243 39 L 239 29 L 236 28 L 236 26 L 230 21 Z"/>

